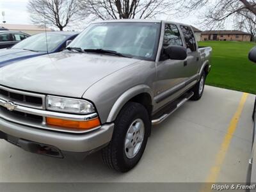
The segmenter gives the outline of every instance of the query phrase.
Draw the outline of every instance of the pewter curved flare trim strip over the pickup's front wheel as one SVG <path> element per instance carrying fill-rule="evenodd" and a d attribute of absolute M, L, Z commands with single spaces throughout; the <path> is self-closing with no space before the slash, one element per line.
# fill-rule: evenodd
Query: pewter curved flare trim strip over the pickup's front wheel
<path fill-rule="evenodd" d="M 116 116 L 120 112 L 120 110 L 123 108 L 123 106 L 130 100 L 132 97 L 135 97 L 136 95 L 139 95 L 140 93 L 148 93 L 151 97 L 151 100 L 153 100 L 153 93 L 149 86 L 145 84 L 139 84 L 137 86 L 134 86 L 132 88 L 129 88 L 129 90 L 125 91 L 118 97 L 115 104 L 111 108 L 111 111 L 108 115 L 107 122 L 113 122 L 116 119 Z"/>

